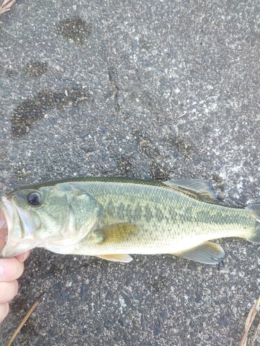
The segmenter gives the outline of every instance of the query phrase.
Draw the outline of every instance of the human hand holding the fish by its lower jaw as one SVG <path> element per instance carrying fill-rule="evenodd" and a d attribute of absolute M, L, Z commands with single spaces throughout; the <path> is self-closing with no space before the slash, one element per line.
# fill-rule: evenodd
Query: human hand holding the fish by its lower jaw
<path fill-rule="evenodd" d="M 0 250 L 4 244 L 3 238 L 0 237 Z M 30 251 L 13 258 L 0 259 L 0 322 L 8 314 L 8 302 L 17 295 L 17 279 L 24 271 L 24 261 L 28 255 L 30 255 Z"/>

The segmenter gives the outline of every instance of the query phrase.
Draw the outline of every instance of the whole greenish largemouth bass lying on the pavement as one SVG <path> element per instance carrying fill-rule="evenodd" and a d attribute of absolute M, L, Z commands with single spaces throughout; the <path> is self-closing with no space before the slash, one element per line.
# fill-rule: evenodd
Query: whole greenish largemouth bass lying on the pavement
<path fill-rule="evenodd" d="M 17 188 L 0 199 L 0 257 L 32 248 L 130 262 L 130 255 L 171 254 L 219 264 L 211 240 L 260 243 L 260 204 L 218 203 L 203 179 L 148 181 L 87 177 Z"/>

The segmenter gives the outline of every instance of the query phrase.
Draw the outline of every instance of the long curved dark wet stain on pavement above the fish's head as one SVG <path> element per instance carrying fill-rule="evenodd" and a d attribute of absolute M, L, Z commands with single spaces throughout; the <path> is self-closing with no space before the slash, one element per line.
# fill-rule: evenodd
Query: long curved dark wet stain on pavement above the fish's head
<path fill-rule="evenodd" d="M 68 104 L 76 107 L 88 99 L 87 89 L 77 84 L 64 91 L 40 91 L 35 98 L 21 102 L 11 114 L 12 137 L 28 134 L 33 124 L 44 117 L 49 109 L 62 109 Z"/>

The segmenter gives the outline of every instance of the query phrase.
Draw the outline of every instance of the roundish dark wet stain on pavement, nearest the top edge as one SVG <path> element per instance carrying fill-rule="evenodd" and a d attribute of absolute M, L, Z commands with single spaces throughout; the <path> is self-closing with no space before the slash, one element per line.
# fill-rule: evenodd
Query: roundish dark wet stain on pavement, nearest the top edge
<path fill-rule="evenodd" d="M 58 22 L 58 34 L 77 44 L 83 44 L 92 33 L 92 25 L 81 19 L 73 17 Z"/>

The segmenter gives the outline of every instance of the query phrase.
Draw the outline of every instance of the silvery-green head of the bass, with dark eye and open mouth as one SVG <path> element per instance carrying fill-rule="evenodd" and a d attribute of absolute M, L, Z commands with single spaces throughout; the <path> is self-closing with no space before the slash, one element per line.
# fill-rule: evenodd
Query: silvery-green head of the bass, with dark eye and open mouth
<path fill-rule="evenodd" d="M 0 199 L 0 257 L 35 247 L 70 253 L 97 213 L 91 196 L 66 183 L 18 188 Z"/>

